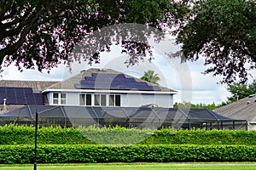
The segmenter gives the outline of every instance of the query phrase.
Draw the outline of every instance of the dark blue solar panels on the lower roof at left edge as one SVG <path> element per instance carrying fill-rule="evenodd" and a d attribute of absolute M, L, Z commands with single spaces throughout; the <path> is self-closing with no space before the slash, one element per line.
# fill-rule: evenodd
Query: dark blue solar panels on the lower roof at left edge
<path fill-rule="evenodd" d="M 32 88 L 0 87 L 0 104 L 6 99 L 7 105 L 44 105 L 43 94 L 35 94 Z"/>

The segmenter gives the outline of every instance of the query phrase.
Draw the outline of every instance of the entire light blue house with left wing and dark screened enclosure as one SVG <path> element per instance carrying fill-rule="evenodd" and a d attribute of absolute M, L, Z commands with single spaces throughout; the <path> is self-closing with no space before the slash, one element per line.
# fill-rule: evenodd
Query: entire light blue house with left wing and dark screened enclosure
<path fill-rule="evenodd" d="M 1 125 L 243 128 L 214 111 L 173 109 L 176 91 L 111 69 L 89 69 L 61 82 L 0 81 Z"/>

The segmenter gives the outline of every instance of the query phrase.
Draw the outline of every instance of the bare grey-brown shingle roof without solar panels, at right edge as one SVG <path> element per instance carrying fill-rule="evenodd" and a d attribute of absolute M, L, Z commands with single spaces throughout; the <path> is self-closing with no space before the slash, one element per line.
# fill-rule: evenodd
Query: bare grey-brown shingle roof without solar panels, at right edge
<path fill-rule="evenodd" d="M 240 99 L 230 105 L 224 105 L 214 111 L 223 116 L 254 122 L 256 121 L 256 94 Z"/>

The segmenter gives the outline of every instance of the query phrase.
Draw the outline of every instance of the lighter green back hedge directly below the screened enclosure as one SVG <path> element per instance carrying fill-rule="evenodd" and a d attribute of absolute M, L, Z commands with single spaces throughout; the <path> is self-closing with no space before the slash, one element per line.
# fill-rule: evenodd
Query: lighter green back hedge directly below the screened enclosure
<path fill-rule="evenodd" d="M 0 144 L 33 144 L 34 127 L 0 127 Z M 153 134 L 153 135 L 152 135 Z M 160 130 L 125 127 L 40 127 L 38 144 L 246 144 L 256 145 L 256 131 Z"/>

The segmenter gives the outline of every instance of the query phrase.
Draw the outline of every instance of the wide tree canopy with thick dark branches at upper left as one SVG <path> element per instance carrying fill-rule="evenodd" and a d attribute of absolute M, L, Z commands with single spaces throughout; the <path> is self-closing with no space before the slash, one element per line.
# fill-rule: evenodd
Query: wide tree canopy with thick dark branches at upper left
<path fill-rule="evenodd" d="M 2 0 L 1 69 L 14 62 L 20 70 L 50 70 L 61 61 L 67 61 L 75 45 L 94 31 L 125 22 L 162 30 L 162 23 L 169 17 L 169 10 L 170 3 L 167 0 Z M 84 57 L 84 60 L 89 63 L 98 62 L 99 52 L 109 49 L 112 36 L 116 36 L 117 43 L 125 47 L 126 53 L 137 51 L 136 54 L 146 55 L 145 51 L 149 49 L 147 43 L 128 41 L 137 36 L 136 30 L 127 30 L 123 37 L 119 37 L 118 33 L 118 30 L 113 29 L 105 32 L 97 42 L 91 41 L 95 45 L 91 46 L 93 52 Z M 79 49 L 77 53 L 83 51 Z"/>

